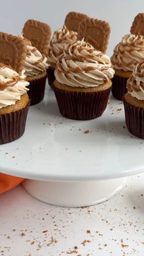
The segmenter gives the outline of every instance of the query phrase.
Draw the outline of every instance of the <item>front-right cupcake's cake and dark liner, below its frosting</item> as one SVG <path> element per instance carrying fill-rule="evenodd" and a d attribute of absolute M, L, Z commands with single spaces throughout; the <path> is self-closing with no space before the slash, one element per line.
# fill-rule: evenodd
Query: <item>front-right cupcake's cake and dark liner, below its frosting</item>
<path fill-rule="evenodd" d="M 144 103 L 141 102 L 129 93 L 123 96 L 126 126 L 131 134 L 144 139 Z"/>

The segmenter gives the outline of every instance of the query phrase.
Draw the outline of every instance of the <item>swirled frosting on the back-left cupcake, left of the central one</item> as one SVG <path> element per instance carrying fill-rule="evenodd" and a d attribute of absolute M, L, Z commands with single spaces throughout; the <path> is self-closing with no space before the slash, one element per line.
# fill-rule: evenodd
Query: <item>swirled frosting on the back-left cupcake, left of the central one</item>
<path fill-rule="evenodd" d="M 26 42 L 27 54 L 24 64 L 24 75 L 26 76 L 35 76 L 45 71 L 49 65 L 47 63 L 47 57 L 43 56 L 37 48 L 32 46 L 32 43 L 20 35 Z"/>

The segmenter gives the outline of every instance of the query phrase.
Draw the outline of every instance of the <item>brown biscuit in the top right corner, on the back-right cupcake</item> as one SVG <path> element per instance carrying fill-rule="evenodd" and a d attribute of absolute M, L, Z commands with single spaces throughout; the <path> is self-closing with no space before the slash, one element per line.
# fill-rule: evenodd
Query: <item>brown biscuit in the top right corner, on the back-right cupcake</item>
<path fill-rule="evenodd" d="M 144 13 L 135 16 L 130 31 L 134 35 L 144 35 Z"/>

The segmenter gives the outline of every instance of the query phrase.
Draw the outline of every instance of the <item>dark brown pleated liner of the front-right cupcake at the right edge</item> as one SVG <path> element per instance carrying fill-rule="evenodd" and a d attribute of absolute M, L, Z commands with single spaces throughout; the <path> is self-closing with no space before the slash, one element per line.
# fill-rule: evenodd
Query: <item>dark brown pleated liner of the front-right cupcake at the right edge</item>
<path fill-rule="evenodd" d="M 123 97 L 126 126 L 131 134 L 144 139 L 144 109 L 129 104 Z"/>

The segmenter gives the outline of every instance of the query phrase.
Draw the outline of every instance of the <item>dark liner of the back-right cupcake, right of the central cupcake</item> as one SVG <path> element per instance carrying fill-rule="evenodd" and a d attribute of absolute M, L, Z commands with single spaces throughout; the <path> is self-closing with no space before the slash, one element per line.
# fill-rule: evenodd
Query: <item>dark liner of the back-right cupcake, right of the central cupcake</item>
<path fill-rule="evenodd" d="M 121 76 L 114 75 L 112 78 L 112 95 L 118 100 L 122 100 L 123 95 L 128 92 L 126 88 L 126 82 L 128 78 L 122 78 Z"/>

